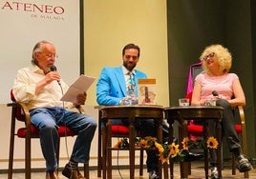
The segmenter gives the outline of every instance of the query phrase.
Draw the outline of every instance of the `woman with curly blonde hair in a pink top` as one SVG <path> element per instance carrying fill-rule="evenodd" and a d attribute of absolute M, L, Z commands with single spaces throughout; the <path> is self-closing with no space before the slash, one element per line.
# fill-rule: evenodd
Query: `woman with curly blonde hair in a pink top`
<path fill-rule="evenodd" d="M 252 166 L 243 155 L 232 112 L 234 106 L 245 106 L 245 93 L 237 74 L 229 72 L 232 66 L 231 53 L 222 45 L 211 45 L 203 50 L 200 60 L 204 72 L 195 79 L 191 104 L 205 105 L 208 100 L 215 100 L 217 106 L 224 108 L 222 128 L 227 146 L 235 154 L 240 172 L 248 171 Z M 214 131 L 214 125 L 209 126 L 210 131 Z M 210 177 L 219 178 L 214 150 L 210 150 L 210 156 Z"/>

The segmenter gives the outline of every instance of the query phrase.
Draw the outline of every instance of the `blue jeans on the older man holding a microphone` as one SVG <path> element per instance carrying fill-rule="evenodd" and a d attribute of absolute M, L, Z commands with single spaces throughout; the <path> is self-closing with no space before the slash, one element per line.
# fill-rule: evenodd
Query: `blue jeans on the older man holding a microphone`
<path fill-rule="evenodd" d="M 96 131 L 96 120 L 78 112 L 61 107 L 32 109 L 32 124 L 39 129 L 41 149 L 46 160 L 46 168 L 58 168 L 56 148 L 59 136 L 58 126 L 67 126 L 76 136 L 71 160 L 78 163 L 88 163 L 91 143 Z"/>

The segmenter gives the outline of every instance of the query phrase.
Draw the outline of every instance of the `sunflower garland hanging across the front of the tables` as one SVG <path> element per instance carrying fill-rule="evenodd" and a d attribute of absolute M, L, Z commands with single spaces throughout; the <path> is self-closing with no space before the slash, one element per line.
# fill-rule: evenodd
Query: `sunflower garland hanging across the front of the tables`
<path fill-rule="evenodd" d="M 140 139 L 137 145 L 143 149 L 157 149 L 160 157 L 160 161 L 162 163 L 168 163 L 170 157 L 173 162 L 181 162 L 184 158 L 184 154 L 182 150 L 188 150 L 190 148 L 201 148 L 201 149 L 217 149 L 218 141 L 210 136 L 206 141 L 197 139 L 191 140 L 188 137 L 184 137 L 182 142 L 182 149 L 180 149 L 180 145 L 172 143 L 172 144 L 160 144 L 155 137 L 145 137 Z"/>

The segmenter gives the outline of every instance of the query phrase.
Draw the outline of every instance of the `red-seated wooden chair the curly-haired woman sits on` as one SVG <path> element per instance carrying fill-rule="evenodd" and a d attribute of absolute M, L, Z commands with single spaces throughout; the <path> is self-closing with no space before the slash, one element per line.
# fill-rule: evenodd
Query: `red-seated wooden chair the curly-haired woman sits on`
<path fill-rule="evenodd" d="M 191 101 L 193 84 L 196 76 L 203 72 L 202 63 L 192 64 L 190 66 L 188 83 L 187 83 L 187 94 L 186 98 L 189 98 Z M 242 149 L 244 154 L 247 155 L 247 142 L 246 142 L 246 133 L 245 133 L 245 112 L 242 106 L 237 106 L 233 109 L 234 116 L 236 118 L 237 124 L 235 129 L 242 138 Z M 191 136 L 202 136 L 203 135 L 203 126 L 199 124 L 190 123 L 187 125 L 187 131 Z M 234 154 L 232 154 L 232 175 L 236 174 L 236 160 Z M 245 178 L 248 178 L 248 171 L 245 172 Z"/>

